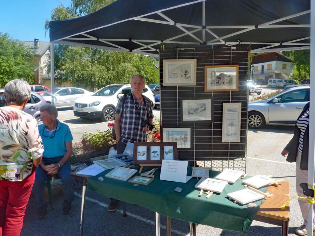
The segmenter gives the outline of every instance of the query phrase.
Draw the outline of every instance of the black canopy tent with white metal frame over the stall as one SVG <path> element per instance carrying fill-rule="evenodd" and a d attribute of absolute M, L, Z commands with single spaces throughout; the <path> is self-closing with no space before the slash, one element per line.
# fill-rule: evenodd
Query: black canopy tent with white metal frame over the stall
<path fill-rule="evenodd" d="M 314 45 L 315 0 L 137 0 L 116 2 L 99 11 L 51 21 L 50 42 L 158 56 L 159 50 L 235 47 L 251 52 L 310 49 Z M 314 27 L 313 27 L 314 28 Z M 312 35 L 312 40 L 311 40 Z M 311 68 L 315 67 L 314 47 Z M 53 52 L 53 50 L 51 50 Z M 51 75 L 54 86 L 54 55 Z M 311 77 L 313 75 L 311 70 Z M 310 100 L 315 94 L 311 89 Z M 315 110 L 310 118 L 310 162 L 314 171 Z M 282 147 L 281 147 L 282 148 Z M 314 183 L 309 171 L 309 183 Z M 311 221 L 312 211 L 309 214 Z M 309 226 L 311 233 L 312 226 Z"/>

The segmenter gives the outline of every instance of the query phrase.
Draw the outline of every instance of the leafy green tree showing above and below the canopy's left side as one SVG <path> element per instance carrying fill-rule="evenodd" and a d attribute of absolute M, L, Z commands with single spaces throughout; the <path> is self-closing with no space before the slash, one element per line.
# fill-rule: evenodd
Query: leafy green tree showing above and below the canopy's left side
<path fill-rule="evenodd" d="M 114 0 L 72 0 L 71 6 L 60 5 L 52 11 L 52 20 L 69 19 L 90 14 Z M 45 23 L 46 32 L 49 21 Z M 97 48 L 56 45 L 54 70 L 57 84 L 70 80 L 76 87 L 103 87 L 112 83 L 129 83 L 134 74 L 141 74 L 147 84 L 158 83 L 159 73 L 153 57 Z M 50 65 L 49 65 L 50 66 Z"/>

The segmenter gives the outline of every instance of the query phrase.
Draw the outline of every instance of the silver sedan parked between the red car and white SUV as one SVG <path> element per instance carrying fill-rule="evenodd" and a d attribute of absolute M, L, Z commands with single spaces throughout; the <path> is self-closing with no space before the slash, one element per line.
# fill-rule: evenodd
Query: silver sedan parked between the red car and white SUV
<path fill-rule="evenodd" d="M 74 87 L 56 87 L 51 96 L 51 89 L 42 94 L 43 98 L 52 103 L 52 97 L 54 99 L 54 105 L 60 107 L 71 107 L 74 102 L 83 96 L 92 95 L 93 92 L 89 92 L 83 88 Z"/>

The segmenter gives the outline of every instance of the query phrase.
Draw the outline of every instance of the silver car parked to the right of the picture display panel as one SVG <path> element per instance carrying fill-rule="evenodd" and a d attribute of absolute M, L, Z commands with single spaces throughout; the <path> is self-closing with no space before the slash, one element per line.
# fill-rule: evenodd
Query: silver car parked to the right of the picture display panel
<path fill-rule="evenodd" d="M 248 127 L 295 125 L 305 104 L 310 100 L 310 86 L 294 86 L 266 99 L 248 104 Z"/>

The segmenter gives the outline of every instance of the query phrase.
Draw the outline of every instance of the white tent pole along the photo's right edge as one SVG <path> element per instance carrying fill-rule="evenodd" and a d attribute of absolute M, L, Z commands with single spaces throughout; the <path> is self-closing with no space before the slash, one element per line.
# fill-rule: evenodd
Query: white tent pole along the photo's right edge
<path fill-rule="evenodd" d="M 311 53 L 310 53 L 310 83 L 314 83 L 315 76 L 315 0 L 311 0 Z M 310 86 L 310 125 L 309 125 L 309 146 L 308 146 L 308 184 L 313 185 L 314 183 L 314 162 L 315 162 L 315 89 L 314 85 Z M 310 208 L 307 217 L 307 235 L 311 236 L 313 233 L 313 207 Z"/>

